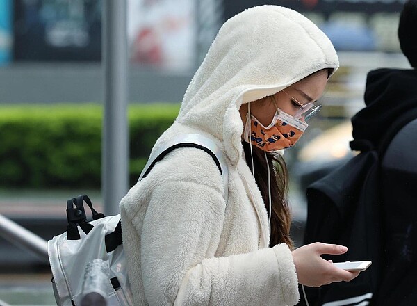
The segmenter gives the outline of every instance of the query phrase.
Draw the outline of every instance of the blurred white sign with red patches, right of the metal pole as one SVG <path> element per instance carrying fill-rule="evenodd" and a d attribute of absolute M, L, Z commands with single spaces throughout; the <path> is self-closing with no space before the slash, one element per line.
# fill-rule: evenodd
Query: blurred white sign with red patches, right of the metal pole
<path fill-rule="evenodd" d="M 129 0 L 131 61 L 188 69 L 195 57 L 194 0 Z"/>

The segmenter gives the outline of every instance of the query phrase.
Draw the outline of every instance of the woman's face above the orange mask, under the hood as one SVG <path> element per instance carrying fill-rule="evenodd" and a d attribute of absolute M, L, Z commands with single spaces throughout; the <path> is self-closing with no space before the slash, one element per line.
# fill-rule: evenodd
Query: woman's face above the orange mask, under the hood
<path fill-rule="evenodd" d="M 300 104 L 316 102 L 325 91 L 326 84 L 327 70 L 320 70 L 315 74 L 311 74 L 309 77 L 285 88 L 285 92 L 277 92 L 274 95 L 277 107 L 289 115 L 295 115 L 298 109 L 300 109 L 300 105 L 297 104 L 297 102 L 300 102 Z M 294 101 L 294 99 L 296 99 L 297 102 Z M 239 111 L 243 124 L 245 124 L 247 104 L 243 104 Z M 276 111 L 277 108 L 275 107 L 272 97 L 265 97 L 250 103 L 251 115 L 261 122 L 264 127 L 268 127 L 272 122 L 272 118 Z M 300 119 L 304 120 L 304 117 Z"/>

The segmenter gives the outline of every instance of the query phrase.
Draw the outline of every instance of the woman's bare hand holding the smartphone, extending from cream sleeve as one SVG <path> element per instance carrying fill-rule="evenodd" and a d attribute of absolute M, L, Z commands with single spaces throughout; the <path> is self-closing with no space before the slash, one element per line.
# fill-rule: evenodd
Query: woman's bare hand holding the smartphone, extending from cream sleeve
<path fill-rule="evenodd" d="M 311 243 L 293 250 L 295 270 L 298 282 L 309 287 L 320 287 L 332 282 L 349 282 L 359 275 L 359 272 L 349 272 L 336 268 L 332 261 L 322 259 L 322 254 L 341 255 L 347 252 L 342 245 L 327 243 Z"/>

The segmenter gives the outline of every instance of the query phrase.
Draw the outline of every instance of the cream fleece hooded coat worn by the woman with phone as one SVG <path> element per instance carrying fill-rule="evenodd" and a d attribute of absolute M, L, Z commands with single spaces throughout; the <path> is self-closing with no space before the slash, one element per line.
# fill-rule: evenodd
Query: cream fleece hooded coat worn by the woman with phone
<path fill-rule="evenodd" d="M 259 6 L 224 23 L 186 90 L 177 120 L 153 150 L 183 133 L 210 137 L 227 157 L 229 190 L 224 191 L 211 156 L 183 147 L 156 163 L 122 199 L 135 305 L 298 302 L 291 251 L 285 244 L 268 247 L 267 211 L 243 158 L 238 110 L 313 72 L 337 67 L 326 35 L 288 8 Z"/>

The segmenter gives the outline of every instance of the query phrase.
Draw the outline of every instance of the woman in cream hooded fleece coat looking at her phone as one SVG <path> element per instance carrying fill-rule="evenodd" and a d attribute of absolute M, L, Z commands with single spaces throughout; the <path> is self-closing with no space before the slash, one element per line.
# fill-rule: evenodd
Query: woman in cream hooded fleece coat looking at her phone
<path fill-rule="evenodd" d="M 273 152 L 301 136 L 337 67 L 332 43 L 293 10 L 260 6 L 225 22 L 153 150 L 179 134 L 211 138 L 227 156 L 229 188 L 211 156 L 183 147 L 122 199 L 136 305 L 295 305 L 298 283 L 357 276 L 320 257 L 341 245 L 291 251 L 286 168 Z"/>

